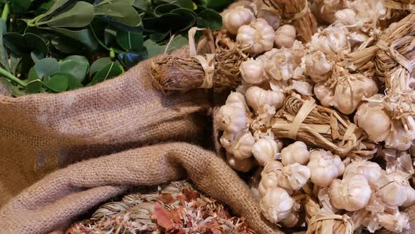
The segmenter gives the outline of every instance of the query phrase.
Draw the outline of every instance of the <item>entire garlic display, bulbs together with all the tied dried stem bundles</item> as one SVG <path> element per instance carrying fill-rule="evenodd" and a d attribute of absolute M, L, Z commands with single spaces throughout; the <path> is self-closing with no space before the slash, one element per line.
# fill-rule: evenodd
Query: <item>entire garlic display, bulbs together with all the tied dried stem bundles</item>
<path fill-rule="evenodd" d="M 228 92 L 217 140 L 231 168 L 259 172 L 250 186 L 267 220 L 400 233 L 415 204 L 413 4 L 237 1 L 207 32 L 211 54 L 156 59 L 153 82 Z"/>

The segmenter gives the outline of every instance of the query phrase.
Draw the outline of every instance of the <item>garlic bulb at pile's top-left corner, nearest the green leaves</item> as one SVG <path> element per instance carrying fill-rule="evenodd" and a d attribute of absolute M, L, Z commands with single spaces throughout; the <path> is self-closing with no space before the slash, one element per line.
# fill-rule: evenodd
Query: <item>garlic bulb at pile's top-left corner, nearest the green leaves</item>
<path fill-rule="evenodd" d="M 236 35 L 239 27 L 249 25 L 253 20 L 255 20 L 255 14 L 252 8 L 249 6 L 236 6 L 226 13 L 222 21 L 226 30 Z"/>

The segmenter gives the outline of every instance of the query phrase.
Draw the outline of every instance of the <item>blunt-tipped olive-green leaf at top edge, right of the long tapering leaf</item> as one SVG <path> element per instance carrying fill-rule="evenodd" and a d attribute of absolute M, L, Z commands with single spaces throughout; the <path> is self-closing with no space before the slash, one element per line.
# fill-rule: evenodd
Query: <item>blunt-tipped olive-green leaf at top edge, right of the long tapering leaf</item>
<path fill-rule="evenodd" d="M 109 16 L 120 23 L 132 27 L 136 27 L 141 24 L 139 13 L 134 9 L 134 7 L 122 1 L 95 6 L 94 14 L 95 16 Z"/>

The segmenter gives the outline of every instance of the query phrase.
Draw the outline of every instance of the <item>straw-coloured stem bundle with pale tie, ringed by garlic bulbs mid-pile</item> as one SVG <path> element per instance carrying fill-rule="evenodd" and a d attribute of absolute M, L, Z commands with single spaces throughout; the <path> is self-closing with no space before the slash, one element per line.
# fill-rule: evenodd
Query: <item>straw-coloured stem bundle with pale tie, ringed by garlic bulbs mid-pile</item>
<path fill-rule="evenodd" d="M 376 153 L 375 144 L 362 128 L 338 111 L 315 104 L 312 97 L 304 100 L 298 94 L 291 95 L 276 117 L 272 125 L 276 137 L 300 140 L 343 157 L 367 158 Z"/>

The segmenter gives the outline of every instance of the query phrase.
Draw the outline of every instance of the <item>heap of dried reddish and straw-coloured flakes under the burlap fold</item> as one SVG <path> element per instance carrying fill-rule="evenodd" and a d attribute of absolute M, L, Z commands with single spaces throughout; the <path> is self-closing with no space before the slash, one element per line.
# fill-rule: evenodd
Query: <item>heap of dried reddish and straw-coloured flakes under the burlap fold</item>
<path fill-rule="evenodd" d="M 223 204 L 201 195 L 186 181 L 103 204 L 91 218 L 74 223 L 66 231 L 91 233 L 255 234 L 243 218 L 231 216 Z"/>

